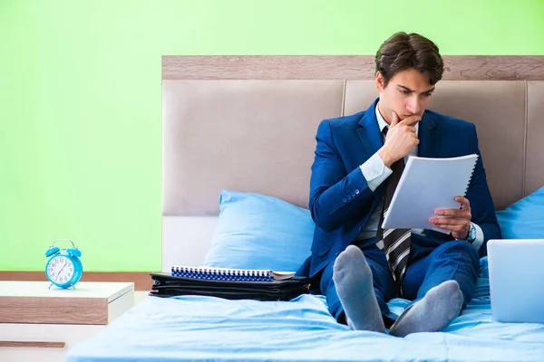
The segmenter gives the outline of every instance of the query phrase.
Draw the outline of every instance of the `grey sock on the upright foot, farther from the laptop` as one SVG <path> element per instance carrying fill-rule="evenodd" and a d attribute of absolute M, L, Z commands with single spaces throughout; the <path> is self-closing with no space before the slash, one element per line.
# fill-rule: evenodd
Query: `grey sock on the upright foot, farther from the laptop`
<path fill-rule="evenodd" d="M 358 247 L 349 245 L 338 255 L 333 281 L 351 329 L 384 333 L 384 319 L 374 295 L 372 271 Z"/>

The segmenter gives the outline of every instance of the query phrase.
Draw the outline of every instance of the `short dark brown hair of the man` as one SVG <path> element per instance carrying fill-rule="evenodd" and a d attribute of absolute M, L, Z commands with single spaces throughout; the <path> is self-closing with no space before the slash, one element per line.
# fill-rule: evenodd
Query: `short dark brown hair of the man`
<path fill-rule="evenodd" d="M 442 79 L 444 66 L 438 46 L 418 33 L 394 33 L 376 52 L 376 71 L 384 77 L 384 88 L 399 71 L 416 69 L 435 84 Z"/>

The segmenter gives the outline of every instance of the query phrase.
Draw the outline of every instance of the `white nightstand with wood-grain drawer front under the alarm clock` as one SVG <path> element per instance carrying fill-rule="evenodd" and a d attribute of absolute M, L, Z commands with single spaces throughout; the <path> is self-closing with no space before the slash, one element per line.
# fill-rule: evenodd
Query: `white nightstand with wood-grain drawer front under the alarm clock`
<path fill-rule="evenodd" d="M 46 281 L 0 281 L 0 361 L 62 362 L 134 305 L 134 283 L 91 282 L 75 290 Z"/>

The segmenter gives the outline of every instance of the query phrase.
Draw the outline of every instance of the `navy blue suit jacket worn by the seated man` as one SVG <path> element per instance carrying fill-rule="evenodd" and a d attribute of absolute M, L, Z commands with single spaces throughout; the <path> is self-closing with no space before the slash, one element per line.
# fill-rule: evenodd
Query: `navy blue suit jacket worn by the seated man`
<path fill-rule="evenodd" d="M 309 209 L 316 231 L 312 256 L 299 274 L 314 276 L 342 252 L 368 222 L 384 193 L 383 183 L 374 192 L 359 168 L 384 145 L 372 106 L 353 116 L 325 119 L 316 134 L 316 156 L 310 180 Z M 478 138 L 473 124 L 425 110 L 419 126 L 421 157 L 458 157 L 477 153 Z M 471 202 L 472 222 L 481 226 L 485 255 L 489 239 L 500 238 L 495 209 L 487 186 L 481 157 L 478 157 L 466 197 Z M 436 247 L 452 240 L 451 235 L 426 230 L 413 234 L 413 250 Z M 414 243 L 414 238 L 416 239 Z M 414 244 L 417 247 L 414 247 Z"/>

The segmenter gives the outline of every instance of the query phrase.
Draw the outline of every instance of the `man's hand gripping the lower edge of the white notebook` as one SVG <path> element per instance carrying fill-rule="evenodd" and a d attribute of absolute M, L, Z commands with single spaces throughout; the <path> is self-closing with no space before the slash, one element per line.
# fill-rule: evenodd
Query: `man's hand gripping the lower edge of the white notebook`
<path fill-rule="evenodd" d="M 461 209 L 436 210 L 434 214 L 447 217 L 431 217 L 429 223 L 434 227 L 450 230 L 455 239 L 465 240 L 471 230 L 471 203 L 462 196 L 455 196 L 461 203 Z"/>

